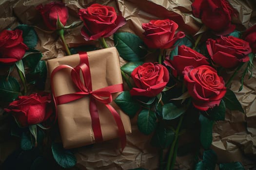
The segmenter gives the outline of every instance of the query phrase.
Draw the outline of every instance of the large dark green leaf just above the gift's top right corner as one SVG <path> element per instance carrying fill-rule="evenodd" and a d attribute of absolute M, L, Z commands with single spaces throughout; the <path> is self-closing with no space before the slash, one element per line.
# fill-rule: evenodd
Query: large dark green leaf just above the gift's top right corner
<path fill-rule="evenodd" d="M 114 42 L 124 60 L 139 61 L 147 54 L 145 49 L 139 47 L 144 46 L 144 42 L 135 34 L 116 33 Z"/>

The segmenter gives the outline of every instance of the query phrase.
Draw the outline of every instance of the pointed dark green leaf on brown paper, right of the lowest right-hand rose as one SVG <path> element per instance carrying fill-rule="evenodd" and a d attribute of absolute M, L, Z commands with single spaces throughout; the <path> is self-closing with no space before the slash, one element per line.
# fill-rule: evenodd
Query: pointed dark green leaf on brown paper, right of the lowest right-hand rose
<path fill-rule="evenodd" d="M 239 110 L 240 112 L 244 113 L 241 103 L 237 100 L 235 93 L 231 89 L 227 89 L 223 101 L 229 110 Z"/>

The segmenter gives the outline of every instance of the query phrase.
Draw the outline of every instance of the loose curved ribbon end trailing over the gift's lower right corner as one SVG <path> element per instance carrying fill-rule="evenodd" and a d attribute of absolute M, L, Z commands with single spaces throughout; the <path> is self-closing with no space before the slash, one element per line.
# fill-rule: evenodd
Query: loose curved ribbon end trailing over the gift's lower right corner
<path fill-rule="evenodd" d="M 117 123 L 118 136 L 121 140 L 121 149 L 123 151 L 123 149 L 125 148 L 125 145 L 126 145 L 126 134 L 125 134 L 123 122 L 122 122 L 118 112 L 110 104 L 105 104 L 105 106 L 109 109 L 109 111 L 111 112 L 111 114 L 113 115 L 113 117 Z"/>

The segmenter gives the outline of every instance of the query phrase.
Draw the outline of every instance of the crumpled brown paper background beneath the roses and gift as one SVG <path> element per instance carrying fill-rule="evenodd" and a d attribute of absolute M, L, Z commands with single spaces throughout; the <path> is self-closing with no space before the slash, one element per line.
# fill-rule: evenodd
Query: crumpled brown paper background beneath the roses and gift
<path fill-rule="evenodd" d="M 240 31 L 256 24 L 256 1 L 254 0 L 228 0 L 238 11 L 233 17 L 236 28 Z M 42 18 L 35 7 L 49 0 L 1 0 L 0 1 L 0 31 L 15 28 L 19 24 L 28 24 L 47 30 Z M 170 18 L 176 21 L 179 29 L 187 34 L 197 34 L 205 30 L 200 23 L 193 19 L 190 0 L 63 0 L 69 9 L 67 25 L 78 21 L 77 12 L 92 3 L 114 6 L 119 15 L 127 19 L 127 24 L 119 29 L 122 32 L 135 33 L 142 37 L 141 23 L 151 19 Z M 80 35 L 80 28 L 65 31 L 65 39 L 69 47 L 81 45 L 96 45 L 97 41 L 86 42 Z M 65 55 L 61 40 L 57 34 L 46 34 L 35 28 L 39 42 L 37 50 L 43 52 L 43 60 Z M 107 38 L 109 46 L 114 46 Z M 121 59 L 120 64 L 123 65 Z M 254 62 L 256 64 L 256 62 Z M 13 73 L 15 74 L 15 73 Z M 241 76 L 241 75 L 240 75 Z M 49 84 L 49 82 L 48 82 Z M 233 81 L 231 89 L 234 90 L 238 100 L 242 103 L 245 113 L 227 111 L 225 121 L 217 121 L 213 128 L 212 149 L 217 153 L 219 163 L 240 161 L 246 169 L 256 165 L 256 69 L 251 79 L 245 79 L 243 90 L 238 92 L 240 86 L 239 76 Z M 2 111 L 0 112 L 2 113 Z M 0 120 L 1 121 L 1 120 Z M 136 118 L 132 119 L 133 133 L 127 136 L 127 146 L 120 153 L 118 140 L 111 140 L 93 147 L 75 149 L 78 159 L 74 170 L 128 170 L 145 168 L 155 170 L 158 167 L 158 150 L 150 146 L 151 136 L 144 136 L 138 132 Z M 3 142 L 0 146 L 0 162 L 17 147 L 17 141 Z M 192 155 L 178 156 L 176 168 L 178 170 L 193 169 Z M 254 168 L 255 170 L 255 168 Z"/>

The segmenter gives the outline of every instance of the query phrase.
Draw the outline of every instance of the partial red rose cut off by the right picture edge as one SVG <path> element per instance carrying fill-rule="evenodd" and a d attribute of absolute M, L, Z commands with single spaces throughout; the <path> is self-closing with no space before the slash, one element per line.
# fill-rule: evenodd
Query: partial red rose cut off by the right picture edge
<path fill-rule="evenodd" d="M 249 42 L 253 53 L 256 53 L 256 25 L 247 29 L 242 37 L 245 41 Z"/>

